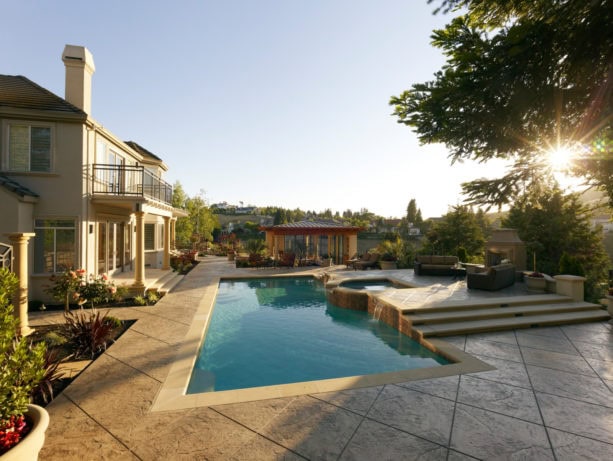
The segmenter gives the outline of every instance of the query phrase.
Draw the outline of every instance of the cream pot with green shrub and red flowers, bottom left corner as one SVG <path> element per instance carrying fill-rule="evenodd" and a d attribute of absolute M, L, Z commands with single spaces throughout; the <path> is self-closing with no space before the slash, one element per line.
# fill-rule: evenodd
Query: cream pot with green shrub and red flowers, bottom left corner
<path fill-rule="evenodd" d="M 47 411 L 30 405 L 30 395 L 45 377 L 45 344 L 33 346 L 19 334 L 11 298 L 15 274 L 0 268 L 0 459 L 38 459 L 49 424 Z"/>

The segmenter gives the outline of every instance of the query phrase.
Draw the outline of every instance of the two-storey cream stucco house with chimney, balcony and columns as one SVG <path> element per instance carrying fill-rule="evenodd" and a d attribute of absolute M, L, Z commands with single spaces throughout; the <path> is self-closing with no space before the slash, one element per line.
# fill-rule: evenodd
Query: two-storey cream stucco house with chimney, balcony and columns
<path fill-rule="evenodd" d="M 176 219 L 167 165 L 91 116 L 91 53 L 66 45 L 61 98 L 23 76 L 0 75 L 0 242 L 32 233 L 29 297 L 47 300 L 49 276 L 69 268 L 133 274 L 168 269 Z"/>

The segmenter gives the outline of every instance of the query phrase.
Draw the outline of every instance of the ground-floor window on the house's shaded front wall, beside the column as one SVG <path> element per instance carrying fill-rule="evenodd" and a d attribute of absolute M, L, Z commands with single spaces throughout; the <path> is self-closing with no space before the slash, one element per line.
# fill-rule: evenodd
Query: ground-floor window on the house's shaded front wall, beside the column
<path fill-rule="evenodd" d="M 62 272 L 77 267 L 74 219 L 37 219 L 34 223 L 34 272 Z"/>

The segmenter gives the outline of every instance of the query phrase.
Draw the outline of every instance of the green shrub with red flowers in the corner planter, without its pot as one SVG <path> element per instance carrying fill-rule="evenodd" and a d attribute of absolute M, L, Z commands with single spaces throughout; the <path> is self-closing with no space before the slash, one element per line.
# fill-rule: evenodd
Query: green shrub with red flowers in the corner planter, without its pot
<path fill-rule="evenodd" d="M 45 344 L 32 345 L 19 335 L 10 303 L 17 286 L 15 274 L 0 268 L 0 454 L 27 433 L 23 414 L 45 375 Z"/>

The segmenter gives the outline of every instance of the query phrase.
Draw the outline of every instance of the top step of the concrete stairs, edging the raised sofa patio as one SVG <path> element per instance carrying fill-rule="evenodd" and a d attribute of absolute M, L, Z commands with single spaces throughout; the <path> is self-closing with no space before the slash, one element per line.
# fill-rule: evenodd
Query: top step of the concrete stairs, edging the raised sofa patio
<path fill-rule="evenodd" d="M 437 305 L 411 306 L 402 310 L 405 315 L 423 312 L 450 312 L 460 310 L 492 309 L 500 307 L 531 306 L 536 304 L 566 303 L 572 301 L 569 296 L 558 294 L 535 294 L 525 296 L 508 296 L 503 298 L 482 298 L 462 301 L 444 301 Z"/>

